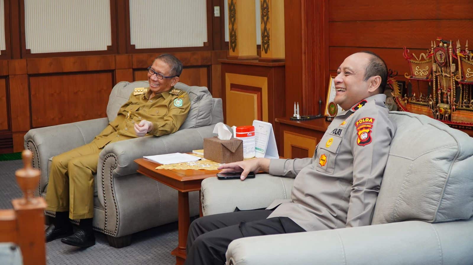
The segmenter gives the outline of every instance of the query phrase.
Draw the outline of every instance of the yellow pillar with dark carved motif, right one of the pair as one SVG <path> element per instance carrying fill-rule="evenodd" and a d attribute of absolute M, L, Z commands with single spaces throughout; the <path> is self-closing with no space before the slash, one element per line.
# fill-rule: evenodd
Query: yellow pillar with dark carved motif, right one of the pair
<path fill-rule="evenodd" d="M 284 0 L 261 1 L 260 61 L 284 61 Z"/>

